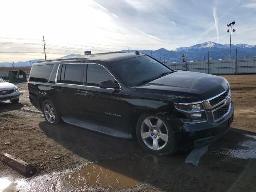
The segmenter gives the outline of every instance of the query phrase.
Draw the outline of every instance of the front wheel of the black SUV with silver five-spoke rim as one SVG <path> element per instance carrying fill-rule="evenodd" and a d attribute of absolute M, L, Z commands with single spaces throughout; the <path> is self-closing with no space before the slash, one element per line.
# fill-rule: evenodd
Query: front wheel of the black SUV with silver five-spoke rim
<path fill-rule="evenodd" d="M 144 150 L 158 155 L 169 155 L 176 152 L 176 142 L 170 124 L 159 115 L 142 114 L 136 135 Z"/>

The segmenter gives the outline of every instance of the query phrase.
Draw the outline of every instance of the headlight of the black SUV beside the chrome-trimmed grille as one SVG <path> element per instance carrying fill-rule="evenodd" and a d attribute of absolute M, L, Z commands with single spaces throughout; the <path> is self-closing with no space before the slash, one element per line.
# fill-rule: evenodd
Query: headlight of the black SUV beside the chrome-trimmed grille
<path fill-rule="evenodd" d="M 175 108 L 186 114 L 188 117 L 184 122 L 198 123 L 205 122 L 207 120 L 206 111 L 202 103 L 198 104 L 180 104 L 174 103 Z"/>

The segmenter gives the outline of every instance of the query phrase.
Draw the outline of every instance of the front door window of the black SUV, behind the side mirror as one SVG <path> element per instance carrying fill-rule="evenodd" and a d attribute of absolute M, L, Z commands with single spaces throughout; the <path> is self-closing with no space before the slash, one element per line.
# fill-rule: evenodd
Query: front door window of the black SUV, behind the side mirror
<path fill-rule="evenodd" d="M 88 64 L 87 67 L 87 85 L 89 86 L 100 86 L 100 81 L 115 80 L 113 76 L 101 65 L 98 64 Z"/>

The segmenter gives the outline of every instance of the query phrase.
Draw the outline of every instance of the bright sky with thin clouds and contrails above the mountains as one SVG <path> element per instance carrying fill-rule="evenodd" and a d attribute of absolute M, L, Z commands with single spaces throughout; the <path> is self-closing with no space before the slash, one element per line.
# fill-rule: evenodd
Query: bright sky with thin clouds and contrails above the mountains
<path fill-rule="evenodd" d="M 256 0 L 1 1 L 0 62 L 213 41 L 256 45 Z"/>

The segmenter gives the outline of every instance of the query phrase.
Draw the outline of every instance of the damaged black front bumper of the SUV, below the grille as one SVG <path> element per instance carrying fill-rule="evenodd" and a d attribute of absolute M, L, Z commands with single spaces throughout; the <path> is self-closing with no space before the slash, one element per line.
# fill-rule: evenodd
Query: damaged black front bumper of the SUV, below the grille
<path fill-rule="evenodd" d="M 175 133 L 181 148 L 192 149 L 211 144 L 230 128 L 234 118 L 234 103 L 231 101 L 229 113 L 220 121 L 182 125 L 181 131 Z"/>

